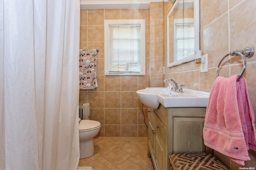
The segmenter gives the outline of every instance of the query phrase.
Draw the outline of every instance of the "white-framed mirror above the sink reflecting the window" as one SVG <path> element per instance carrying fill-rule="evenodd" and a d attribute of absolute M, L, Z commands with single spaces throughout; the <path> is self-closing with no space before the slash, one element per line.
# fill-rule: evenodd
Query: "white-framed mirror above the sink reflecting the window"
<path fill-rule="evenodd" d="M 199 0 L 176 0 L 167 15 L 167 66 L 195 59 L 199 50 Z"/>

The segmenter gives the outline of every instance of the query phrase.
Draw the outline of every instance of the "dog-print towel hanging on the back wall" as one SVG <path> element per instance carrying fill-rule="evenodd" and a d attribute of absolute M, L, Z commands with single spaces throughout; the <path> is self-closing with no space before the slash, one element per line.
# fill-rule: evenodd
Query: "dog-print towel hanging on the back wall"
<path fill-rule="evenodd" d="M 95 89 L 98 87 L 96 80 L 97 52 L 98 49 L 80 49 L 80 90 Z"/>

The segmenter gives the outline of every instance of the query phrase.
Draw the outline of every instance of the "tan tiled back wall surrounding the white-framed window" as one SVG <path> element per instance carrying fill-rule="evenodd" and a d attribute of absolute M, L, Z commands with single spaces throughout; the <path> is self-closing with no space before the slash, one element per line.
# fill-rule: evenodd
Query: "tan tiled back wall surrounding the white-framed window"
<path fill-rule="evenodd" d="M 90 119 L 101 123 L 100 136 L 147 136 L 142 103 L 138 101 L 136 91 L 149 87 L 149 10 L 81 10 L 80 12 L 80 49 L 98 48 L 100 52 L 97 56 L 99 87 L 95 91 L 80 90 L 79 101 L 90 103 Z M 146 75 L 104 75 L 104 20 L 113 19 L 145 19 Z M 147 122 L 146 107 L 143 110 Z"/>

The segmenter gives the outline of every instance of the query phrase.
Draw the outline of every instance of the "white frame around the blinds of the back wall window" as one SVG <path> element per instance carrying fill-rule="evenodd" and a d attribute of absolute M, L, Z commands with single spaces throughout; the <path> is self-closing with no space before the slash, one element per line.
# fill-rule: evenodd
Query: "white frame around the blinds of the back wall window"
<path fill-rule="evenodd" d="M 118 73 L 109 72 L 109 25 L 140 24 L 140 72 L 139 73 Z M 104 20 L 104 54 L 105 54 L 105 75 L 145 75 L 145 20 Z"/>

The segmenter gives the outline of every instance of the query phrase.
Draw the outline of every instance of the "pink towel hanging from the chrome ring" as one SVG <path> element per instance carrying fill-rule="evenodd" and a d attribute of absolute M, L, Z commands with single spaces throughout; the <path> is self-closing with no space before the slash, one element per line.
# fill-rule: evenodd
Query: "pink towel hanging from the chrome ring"
<path fill-rule="evenodd" d="M 244 77 L 217 77 L 207 104 L 204 144 L 234 162 L 250 160 L 248 150 L 256 151 L 255 117 Z"/>

